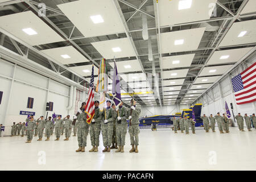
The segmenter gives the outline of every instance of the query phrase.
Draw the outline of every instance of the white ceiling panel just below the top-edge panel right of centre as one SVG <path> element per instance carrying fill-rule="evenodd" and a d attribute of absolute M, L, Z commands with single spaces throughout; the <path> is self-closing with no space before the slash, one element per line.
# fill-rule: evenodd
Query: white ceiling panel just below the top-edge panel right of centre
<path fill-rule="evenodd" d="M 199 47 L 205 27 L 160 34 L 162 53 L 193 51 Z M 183 44 L 175 45 L 178 40 Z"/>

